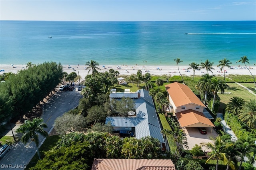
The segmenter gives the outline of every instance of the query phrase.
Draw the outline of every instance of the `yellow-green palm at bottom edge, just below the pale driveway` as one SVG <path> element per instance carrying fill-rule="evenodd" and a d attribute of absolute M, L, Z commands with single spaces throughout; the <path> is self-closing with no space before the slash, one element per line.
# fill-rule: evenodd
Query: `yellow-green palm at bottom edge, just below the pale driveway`
<path fill-rule="evenodd" d="M 215 139 L 210 137 L 211 140 L 214 141 L 214 143 L 212 142 L 208 142 L 208 143 L 202 143 L 202 146 L 206 146 L 207 149 L 211 149 L 212 150 L 212 156 L 210 156 L 210 158 L 208 158 L 208 160 L 206 160 L 205 163 L 207 163 L 209 160 L 216 158 L 217 163 L 216 163 L 216 170 L 218 170 L 218 162 L 219 160 L 223 160 L 224 164 L 228 164 L 228 157 L 226 154 L 227 148 L 233 146 L 232 142 L 229 143 L 224 143 L 221 138 L 220 135 L 218 135 Z"/>

